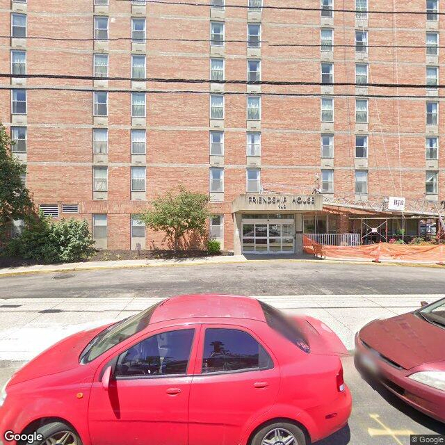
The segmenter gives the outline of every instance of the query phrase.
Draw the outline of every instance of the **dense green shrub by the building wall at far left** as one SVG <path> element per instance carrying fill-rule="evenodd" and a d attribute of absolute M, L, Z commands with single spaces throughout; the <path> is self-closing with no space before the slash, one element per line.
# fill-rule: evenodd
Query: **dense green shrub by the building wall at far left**
<path fill-rule="evenodd" d="M 86 220 L 60 220 L 40 215 L 30 220 L 20 236 L 10 240 L 6 254 L 44 263 L 87 259 L 94 252 L 94 241 Z"/>

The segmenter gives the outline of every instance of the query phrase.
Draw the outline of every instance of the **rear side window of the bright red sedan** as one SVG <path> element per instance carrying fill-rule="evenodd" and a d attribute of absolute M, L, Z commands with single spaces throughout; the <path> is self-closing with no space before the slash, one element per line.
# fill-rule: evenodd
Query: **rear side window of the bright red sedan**
<path fill-rule="evenodd" d="M 270 369 L 273 362 L 250 334 L 235 329 L 207 329 L 202 373 Z"/>

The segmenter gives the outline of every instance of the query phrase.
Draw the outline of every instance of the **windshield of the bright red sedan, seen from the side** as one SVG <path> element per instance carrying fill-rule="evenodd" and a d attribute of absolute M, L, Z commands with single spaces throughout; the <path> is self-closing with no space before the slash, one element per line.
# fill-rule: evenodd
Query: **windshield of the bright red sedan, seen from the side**
<path fill-rule="evenodd" d="M 161 302 L 156 303 L 156 305 L 150 306 L 148 309 L 145 309 L 145 311 L 125 318 L 119 323 L 115 323 L 102 332 L 99 332 L 81 353 L 79 357 L 80 362 L 83 364 L 92 362 L 92 360 L 106 353 L 106 351 L 113 348 L 113 346 L 122 343 L 122 341 L 129 339 L 134 334 L 145 329 L 145 327 L 149 325 L 154 309 L 160 304 Z"/>

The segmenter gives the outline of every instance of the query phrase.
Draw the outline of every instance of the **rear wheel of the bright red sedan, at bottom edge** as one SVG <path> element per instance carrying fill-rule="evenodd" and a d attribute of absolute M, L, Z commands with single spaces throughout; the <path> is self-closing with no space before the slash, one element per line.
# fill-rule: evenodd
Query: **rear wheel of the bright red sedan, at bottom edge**
<path fill-rule="evenodd" d="M 250 445 L 306 445 L 306 437 L 293 423 L 269 423 L 254 435 Z"/>

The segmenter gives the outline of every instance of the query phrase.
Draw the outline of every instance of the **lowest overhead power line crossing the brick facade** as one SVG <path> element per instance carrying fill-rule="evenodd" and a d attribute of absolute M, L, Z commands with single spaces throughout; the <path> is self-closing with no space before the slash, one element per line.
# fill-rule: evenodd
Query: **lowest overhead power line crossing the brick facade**
<path fill-rule="evenodd" d="M 246 92 L 246 91 L 225 91 L 225 92 L 211 92 L 209 90 L 147 90 L 138 89 L 131 90 L 127 88 L 116 89 L 100 89 L 97 88 L 79 88 L 79 87 L 39 87 L 39 86 L 0 86 L 0 90 L 32 90 L 32 91 L 67 91 L 67 92 L 146 92 L 147 94 L 191 94 L 191 95 L 249 95 L 249 96 L 277 96 L 277 97 L 359 97 L 360 99 L 377 98 L 377 99 L 429 99 L 430 101 L 437 101 L 437 99 L 445 99 L 445 96 L 417 96 L 417 95 L 357 95 L 357 94 L 323 94 L 321 92 Z"/>

